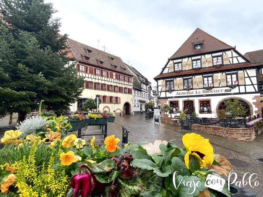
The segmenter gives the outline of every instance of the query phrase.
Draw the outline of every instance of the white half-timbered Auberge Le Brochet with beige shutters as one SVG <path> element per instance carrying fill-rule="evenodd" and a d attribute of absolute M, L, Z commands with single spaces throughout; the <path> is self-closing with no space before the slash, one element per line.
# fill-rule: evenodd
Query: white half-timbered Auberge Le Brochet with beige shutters
<path fill-rule="evenodd" d="M 237 98 L 247 109 L 243 115 L 262 116 L 258 67 L 236 47 L 197 28 L 154 78 L 158 99 L 169 104 L 170 113 L 215 117 L 213 111 L 226 108 L 225 100 Z"/>

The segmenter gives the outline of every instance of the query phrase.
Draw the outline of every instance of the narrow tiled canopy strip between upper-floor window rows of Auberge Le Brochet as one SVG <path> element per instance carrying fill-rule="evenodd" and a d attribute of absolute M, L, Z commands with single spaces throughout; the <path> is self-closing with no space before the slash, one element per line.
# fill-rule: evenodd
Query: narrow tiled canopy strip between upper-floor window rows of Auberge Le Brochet
<path fill-rule="evenodd" d="M 254 64 L 254 63 L 243 63 L 243 64 L 232 64 L 232 65 L 224 65 L 220 68 L 214 68 L 214 67 L 206 67 L 206 68 L 201 68 L 198 71 L 195 70 L 186 70 L 182 71 L 180 73 L 177 72 L 171 72 L 171 73 L 165 73 L 165 74 L 160 74 L 153 79 L 160 79 L 160 78 L 166 78 L 166 77 L 174 77 L 174 76 L 182 76 L 182 75 L 192 75 L 192 74 L 199 74 L 199 73 L 206 73 L 206 72 L 218 72 L 222 70 L 235 70 L 238 68 L 247 68 L 247 67 L 253 67 L 253 66 L 259 66 L 259 64 Z"/>

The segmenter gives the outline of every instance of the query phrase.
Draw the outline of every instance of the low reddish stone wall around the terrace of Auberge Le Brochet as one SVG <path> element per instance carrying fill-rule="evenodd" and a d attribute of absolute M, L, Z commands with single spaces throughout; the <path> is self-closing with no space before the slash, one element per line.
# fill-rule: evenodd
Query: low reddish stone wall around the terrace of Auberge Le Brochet
<path fill-rule="evenodd" d="M 256 139 L 254 127 L 248 129 L 193 124 L 192 131 L 193 130 L 238 141 L 253 142 Z M 259 134 L 261 132 L 262 130 L 259 131 Z"/>

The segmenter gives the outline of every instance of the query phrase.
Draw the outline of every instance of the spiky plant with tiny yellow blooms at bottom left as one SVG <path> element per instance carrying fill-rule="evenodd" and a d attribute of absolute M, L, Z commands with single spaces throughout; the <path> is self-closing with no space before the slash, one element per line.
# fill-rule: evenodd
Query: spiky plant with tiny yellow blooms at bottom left
<path fill-rule="evenodd" d="M 13 196 L 65 196 L 68 187 L 68 176 L 65 171 L 57 173 L 52 169 L 54 156 L 51 154 L 49 163 L 43 164 L 40 171 L 35 166 L 34 155 L 38 142 L 32 145 L 29 158 L 25 156 L 18 162 L 15 187 L 17 193 Z M 38 171 L 38 173 L 37 173 Z"/>

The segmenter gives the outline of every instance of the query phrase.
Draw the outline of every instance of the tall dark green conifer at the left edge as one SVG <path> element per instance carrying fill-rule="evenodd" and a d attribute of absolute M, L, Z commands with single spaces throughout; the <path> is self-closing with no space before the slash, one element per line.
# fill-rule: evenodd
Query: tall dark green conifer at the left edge
<path fill-rule="evenodd" d="M 0 1 L 0 117 L 20 113 L 20 121 L 37 103 L 57 114 L 81 95 L 84 79 L 65 57 L 67 35 L 60 35 L 56 11 L 44 0 Z"/>

